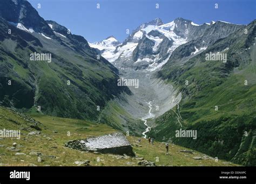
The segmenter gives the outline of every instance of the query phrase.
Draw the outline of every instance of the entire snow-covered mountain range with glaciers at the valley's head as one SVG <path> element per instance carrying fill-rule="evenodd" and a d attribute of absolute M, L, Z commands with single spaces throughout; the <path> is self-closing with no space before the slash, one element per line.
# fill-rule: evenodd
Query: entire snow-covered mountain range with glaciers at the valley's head
<path fill-rule="evenodd" d="M 196 24 L 184 18 L 176 18 L 164 24 L 161 19 L 156 18 L 138 26 L 122 44 L 111 36 L 90 46 L 100 50 L 102 56 L 120 70 L 133 68 L 134 70 L 155 71 L 167 63 L 178 46 L 199 39 L 207 32 L 211 32 L 207 30 L 221 26 L 223 23 L 226 22 L 212 21 Z M 202 42 L 191 49 L 190 53 L 193 55 L 203 51 L 210 42 L 207 39 L 201 39 Z"/>

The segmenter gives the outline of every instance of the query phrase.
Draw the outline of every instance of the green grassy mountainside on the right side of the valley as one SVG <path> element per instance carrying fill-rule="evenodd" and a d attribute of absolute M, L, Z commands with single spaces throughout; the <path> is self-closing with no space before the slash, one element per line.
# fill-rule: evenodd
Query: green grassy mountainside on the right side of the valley
<path fill-rule="evenodd" d="M 216 22 L 211 26 L 221 25 L 219 29 L 226 30 L 223 26 L 228 25 L 230 31 L 236 31 L 217 40 L 214 34 L 213 44 L 209 42 L 205 50 L 189 57 L 184 58 L 183 54 L 191 52 L 187 47 L 193 47 L 195 40 L 172 53 L 157 76 L 179 88 L 182 99 L 156 119 L 150 137 L 173 141 L 219 159 L 255 165 L 255 23 L 254 20 L 234 29 L 228 23 Z M 207 59 L 210 53 L 221 54 L 226 60 Z M 197 130 L 197 139 L 177 137 L 180 128 Z"/>

